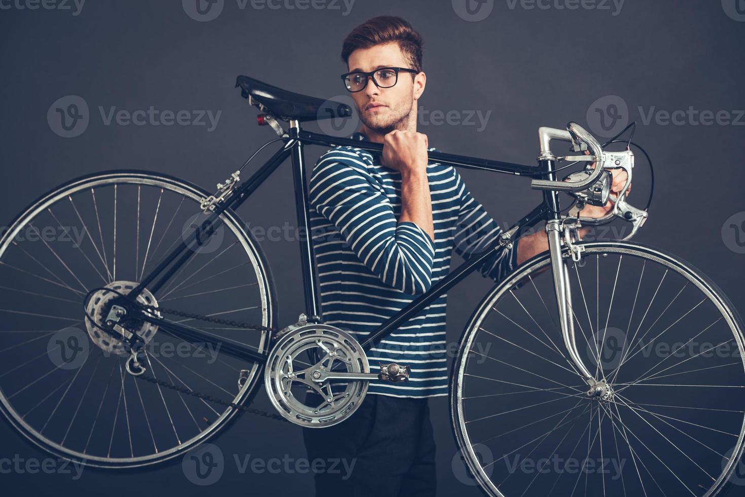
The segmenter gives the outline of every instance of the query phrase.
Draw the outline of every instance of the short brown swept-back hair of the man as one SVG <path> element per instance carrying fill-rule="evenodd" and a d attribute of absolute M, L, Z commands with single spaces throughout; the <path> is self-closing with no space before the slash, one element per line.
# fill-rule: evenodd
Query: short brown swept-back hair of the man
<path fill-rule="evenodd" d="M 406 19 L 394 16 L 373 17 L 354 28 L 344 39 L 341 60 L 348 64 L 349 55 L 358 48 L 370 48 L 388 42 L 398 42 L 411 69 L 416 72 L 422 70 L 422 37 Z"/>

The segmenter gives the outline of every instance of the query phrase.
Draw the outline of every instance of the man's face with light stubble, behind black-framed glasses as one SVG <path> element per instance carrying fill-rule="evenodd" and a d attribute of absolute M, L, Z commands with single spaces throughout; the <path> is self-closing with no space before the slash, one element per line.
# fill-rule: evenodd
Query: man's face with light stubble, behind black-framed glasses
<path fill-rule="evenodd" d="M 358 48 L 349 55 L 348 63 L 349 72 L 370 72 L 381 67 L 411 69 L 411 63 L 396 42 Z M 394 86 L 378 88 L 370 78 L 364 89 L 352 93 L 352 98 L 366 127 L 378 133 L 388 133 L 406 127 L 413 102 L 419 99 L 423 91 L 423 73 L 413 75 L 409 72 L 399 72 L 399 79 Z"/>

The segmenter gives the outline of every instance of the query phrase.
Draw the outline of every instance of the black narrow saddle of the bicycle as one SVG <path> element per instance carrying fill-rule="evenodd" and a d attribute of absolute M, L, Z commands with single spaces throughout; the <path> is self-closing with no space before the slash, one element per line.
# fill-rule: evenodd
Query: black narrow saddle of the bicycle
<path fill-rule="evenodd" d="M 349 117 L 352 108 L 335 100 L 309 97 L 299 93 L 288 92 L 253 77 L 238 76 L 235 87 L 241 87 L 241 96 L 251 98 L 264 107 L 265 112 L 281 119 L 297 119 L 298 121 L 320 121 L 334 117 Z"/>

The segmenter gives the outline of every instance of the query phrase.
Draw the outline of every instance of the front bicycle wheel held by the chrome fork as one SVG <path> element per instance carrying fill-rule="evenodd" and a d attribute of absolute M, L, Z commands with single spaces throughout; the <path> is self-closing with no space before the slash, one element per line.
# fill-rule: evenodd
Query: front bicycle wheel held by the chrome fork
<path fill-rule="evenodd" d="M 697 496 L 743 454 L 743 323 L 686 262 L 625 242 L 564 250 L 577 349 L 569 360 L 548 253 L 472 314 L 451 372 L 451 421 L 471 482 L 491 496 Z M 465 472 L 464 472 L 465 473 Z M 741 475 L 738 475 L 741 478 Z"/>

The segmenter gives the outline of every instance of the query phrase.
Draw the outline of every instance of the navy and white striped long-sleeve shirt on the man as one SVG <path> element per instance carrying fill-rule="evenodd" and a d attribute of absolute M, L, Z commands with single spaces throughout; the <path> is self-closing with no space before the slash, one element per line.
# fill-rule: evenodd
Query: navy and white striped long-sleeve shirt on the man
<path fill-rule="evenodd" d="M 379 153 L 337 147 L 320 156 L 308 191 L 324 323 L 362 341 L 445 277 L 453 250 L 469 259 L 495 246 L 502 230 L 460 174 L 452 166 L 430 162 L 427 175 L 434 240 L 416 224 L 397 221 L 401 174 L 381 165 Z M 479 269 L 499 281 L 516 268 L 516 259 L 513 244 Z M 381 362 L 397 362 L 410 365 L 411 375 L 404 383 L 370 382 L 369 393 L 448 393 L 446 297 L 438 297 L 370 349 L 371 373 L 378 373 Z"/>

